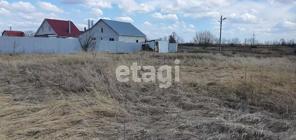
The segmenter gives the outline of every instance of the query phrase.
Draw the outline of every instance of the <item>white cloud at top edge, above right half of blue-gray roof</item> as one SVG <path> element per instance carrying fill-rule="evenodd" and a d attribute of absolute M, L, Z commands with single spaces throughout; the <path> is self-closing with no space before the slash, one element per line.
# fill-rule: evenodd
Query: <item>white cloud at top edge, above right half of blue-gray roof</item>
<path fill-rule="evenodd" d="M 148 13 L 155 10 L 151 4 L 139 4 L 134 0 L 120 0 L 118 8 L 126 14 Z"/>

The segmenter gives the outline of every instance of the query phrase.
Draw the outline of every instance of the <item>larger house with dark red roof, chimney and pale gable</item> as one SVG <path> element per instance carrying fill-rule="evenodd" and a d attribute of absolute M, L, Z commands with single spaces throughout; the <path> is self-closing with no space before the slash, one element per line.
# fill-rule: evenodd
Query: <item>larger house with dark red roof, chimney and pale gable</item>
<path fill-rule="evenodd" d="M 44 19 L 35 37 L 69 38 L 80 33 L 72 21 Z"/>

